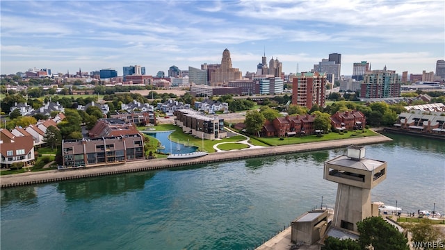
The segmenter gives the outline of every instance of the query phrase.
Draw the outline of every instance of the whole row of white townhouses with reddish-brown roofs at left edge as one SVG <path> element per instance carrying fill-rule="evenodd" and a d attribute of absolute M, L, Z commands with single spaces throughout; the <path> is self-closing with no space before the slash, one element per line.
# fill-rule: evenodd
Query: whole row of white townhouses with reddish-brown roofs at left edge
<path fill-rule="evenodd" d="M 55 126 L 65 118 L 62 113 L 52 119 L 39 121 L 26 128 L 16 127 L 11 131 L 0 129 L 0 156 L 1 167 L 10 167 L 13 163 L 24 163 L 25 166 L 33 165 L 34 147 L 44 143 L 44 134 L 49 126 Z"/>

